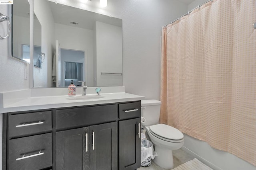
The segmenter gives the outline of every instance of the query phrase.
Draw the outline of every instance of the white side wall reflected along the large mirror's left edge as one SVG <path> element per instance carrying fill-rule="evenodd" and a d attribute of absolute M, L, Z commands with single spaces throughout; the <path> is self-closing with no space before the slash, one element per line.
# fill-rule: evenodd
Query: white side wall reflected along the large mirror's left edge
<path fill-rule="evenodd" d="M 34 87 L 49 87 L 52 86 L 54 19 L 47 1 L 34 0 L 34 12 L 42 25 L 42 53 L 45 53 L 42 68 L 34 67 Z"/>

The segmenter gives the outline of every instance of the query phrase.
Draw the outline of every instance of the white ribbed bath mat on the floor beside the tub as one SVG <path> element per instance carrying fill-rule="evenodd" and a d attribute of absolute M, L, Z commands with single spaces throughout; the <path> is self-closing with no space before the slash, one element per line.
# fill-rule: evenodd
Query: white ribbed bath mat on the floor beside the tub
<path fill-rule="evenodd" d="M 194 158 L 193 160 L 190 160 L 184 164 L 181 164 L 180 166 L 177 166 L 172 170 L 213 170 L 213 169 L 209 168 L 207 165 L 203 164 L 198 159 Z"/>

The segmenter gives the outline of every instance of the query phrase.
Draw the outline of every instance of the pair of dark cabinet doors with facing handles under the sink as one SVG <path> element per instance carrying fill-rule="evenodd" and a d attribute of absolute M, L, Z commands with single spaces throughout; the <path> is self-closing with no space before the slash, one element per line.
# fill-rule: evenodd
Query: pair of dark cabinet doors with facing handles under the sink
<path fill-rule="evenodd" d="M 56 133 L 56 170 L 116 170 L 117 122 Z"/>

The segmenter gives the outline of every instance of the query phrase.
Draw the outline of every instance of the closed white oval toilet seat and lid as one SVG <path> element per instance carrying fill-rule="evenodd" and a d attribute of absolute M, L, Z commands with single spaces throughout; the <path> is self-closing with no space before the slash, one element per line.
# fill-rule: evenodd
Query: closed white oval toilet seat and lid
<path fill-rule="evenodd" d="M 164 141 L 180 143 L 184 141 L 184 135 L 178 129 L 165 124 L 151 125 L 150 132 L 155 137 Z"/>

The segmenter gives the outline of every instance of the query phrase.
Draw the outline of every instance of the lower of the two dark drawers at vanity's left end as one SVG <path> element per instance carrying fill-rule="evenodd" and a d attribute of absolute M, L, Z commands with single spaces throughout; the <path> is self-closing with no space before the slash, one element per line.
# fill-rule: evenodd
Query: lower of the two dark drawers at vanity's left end
<path fill-rule="evenodd" d="M 52 133 L 9 140 L 8 158 L 9 170 L 39 170 L 52 166 Z"/>

